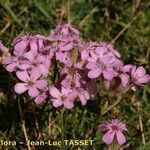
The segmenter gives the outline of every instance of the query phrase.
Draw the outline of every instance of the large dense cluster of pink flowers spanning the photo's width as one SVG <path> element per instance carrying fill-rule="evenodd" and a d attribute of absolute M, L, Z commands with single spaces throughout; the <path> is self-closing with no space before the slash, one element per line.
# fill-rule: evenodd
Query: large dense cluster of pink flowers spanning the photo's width
<path fill-rule="evenodd" d="M 2 61 L 6 70 L 20 80 L 15 92 L 28 92 L 37 104 L 50 99 L 54 107 L 71 109 L 75 100 L 86 105 L 98 92 L 97 81 L 109 88 L 118 78 L 118 88 L 132 89 L 150 81 L 142 66 L 125 65 L 111 44 L 84 41 L 69 24 L 56 26 L 48 36 L 19 35 L 11 48 L 0 42 L 0 49 L 10 53 Z"/>

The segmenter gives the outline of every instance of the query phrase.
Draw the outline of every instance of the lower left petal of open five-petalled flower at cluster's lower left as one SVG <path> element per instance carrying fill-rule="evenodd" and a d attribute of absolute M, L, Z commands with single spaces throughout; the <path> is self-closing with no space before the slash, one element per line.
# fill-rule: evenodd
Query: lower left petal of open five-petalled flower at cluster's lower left
<path fill-rule="evenodd" d="M 27 84 L 26 83 L 17 83 L 14 87 L 14 90 L 18 94 L 22 94 L 27 90 Z"/>

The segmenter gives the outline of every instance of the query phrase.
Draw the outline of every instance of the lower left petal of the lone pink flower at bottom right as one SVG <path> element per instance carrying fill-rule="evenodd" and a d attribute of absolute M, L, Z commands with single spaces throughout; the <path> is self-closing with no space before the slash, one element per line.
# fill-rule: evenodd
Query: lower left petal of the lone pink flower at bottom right
<path fill-rule="evenodd" d="M 106 143 L 106 144 L 111 144 L 114 140 L 114 136 L 115 136 L 115 132 L 107 132 L 106 134 L 104 134 L 103 136 L 103 141 Z"/>

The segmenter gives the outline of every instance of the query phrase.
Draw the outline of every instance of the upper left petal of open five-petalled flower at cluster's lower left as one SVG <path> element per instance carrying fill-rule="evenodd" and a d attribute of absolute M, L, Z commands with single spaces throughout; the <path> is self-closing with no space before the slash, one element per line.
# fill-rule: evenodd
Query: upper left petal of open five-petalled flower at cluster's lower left
<path fill-rule="evenodd" d="M 27 71 L 17 71 L 16 75 L 23 82 L 27 82 L 28 80 L 30 80 L 30 77 L 29 77 Z"/>

